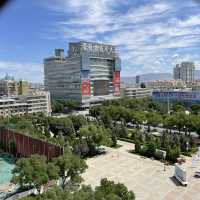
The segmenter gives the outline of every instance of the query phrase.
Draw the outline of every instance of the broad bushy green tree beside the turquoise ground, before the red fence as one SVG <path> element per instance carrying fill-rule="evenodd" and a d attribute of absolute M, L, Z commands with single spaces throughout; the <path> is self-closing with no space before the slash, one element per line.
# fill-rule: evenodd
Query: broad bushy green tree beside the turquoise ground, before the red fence
<path fill-rule="evenodd" d="M 40 192 L 43 184 L 58 178 L 58 168 L 48 164 L 44 156 L 32 155 L 17 161 L 12 181 L 20 187 L 33 187 Z"/>

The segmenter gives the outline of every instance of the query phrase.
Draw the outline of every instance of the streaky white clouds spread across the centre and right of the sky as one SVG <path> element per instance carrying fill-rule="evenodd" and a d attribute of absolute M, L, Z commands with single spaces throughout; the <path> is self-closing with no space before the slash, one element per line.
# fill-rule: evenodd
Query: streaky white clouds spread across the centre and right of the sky
<path fill-rule="evenodd" d="M 131 0 L 46 2 L 62 15 L 56 22 L 57 35 L 67 41 L 117 45 L 126 66 L 124 74 L 171 71 L 177 51 L 185 59 L 189 54 L 191 60 L 200 60 L 190 50 L 200 44 L 200 15 L 194 9 L 199 5 L 190 0 L 151 0 L 140 5 Z"/>

